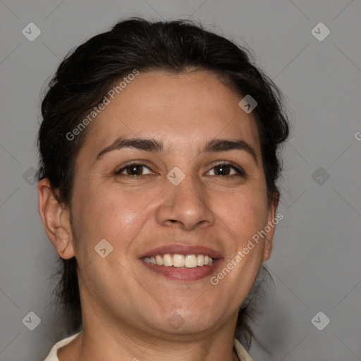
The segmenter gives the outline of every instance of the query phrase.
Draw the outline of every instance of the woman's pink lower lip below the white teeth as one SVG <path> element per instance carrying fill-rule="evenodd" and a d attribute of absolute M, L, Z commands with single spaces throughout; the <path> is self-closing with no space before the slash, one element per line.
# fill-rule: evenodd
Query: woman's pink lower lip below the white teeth
<path fill-rule="evenodd" d="M 142 261 L 142 263 L 152 271 L 157 272 L 157 274 L 161 274 L 162 276 L 166 276 L 175 281 L 197 281 L 214 273 L 214 269 L 217 267 L 219 259 L 216 259 L 213 264 L 207 266 L 197 266 L 188 269 L 159 266 L 158 264 L 147 263 L 144 261 Z"/>

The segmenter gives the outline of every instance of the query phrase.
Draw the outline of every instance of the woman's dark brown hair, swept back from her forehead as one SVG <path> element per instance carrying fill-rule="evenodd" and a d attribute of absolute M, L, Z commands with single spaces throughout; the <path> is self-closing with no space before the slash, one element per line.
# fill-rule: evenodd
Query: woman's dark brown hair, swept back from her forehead
<path fill-rule="evenodd" d="M 210 71 L 241 97 L 250 94 L 262 151 L 269 202 L 278 200 L 281 171 L 279 145 L 288 137 L 288 119 L 281 92 L 243 47 L 184 20 L 148 22 L 130 18 L 96 35 L 61 62 L 42 101 L 39 129 L 39 180 L 49 178 L 59 202 L 71 209 L 74 164 L 90 126 L 69 140 L 66 136 L 98 106 L 123 77 L 137 71 Z M 77 262 L 63 259 L 59 296 L 73 328 L 81 324 Z M 235 332 L 250 347 L 249 302 L 240 307 Z"/>

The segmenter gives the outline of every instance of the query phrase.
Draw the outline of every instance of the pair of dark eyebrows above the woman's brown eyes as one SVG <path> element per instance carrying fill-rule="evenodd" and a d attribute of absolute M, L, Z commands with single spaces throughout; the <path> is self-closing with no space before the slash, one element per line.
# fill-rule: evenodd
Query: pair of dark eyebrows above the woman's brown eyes
<path fill-rule="evenodd" d="M 146 152 L 164 152 L 164 144 L 159 140 L 147 139 L 147 138 L 123 138 L 118 137 L 109 147 L 102 149 L 96 157 L 96 161 L 106 153 L 114 152 L 123 148 L 135 148 L 145 150 Z M 245 140 L 225 140 L 225 139 L 214 139 L 205 145 L 201 153 L 210 152 L 225 152 L 230 150 L 243 150 L 250 154 L 258 164 L 257 153 Z"/>

